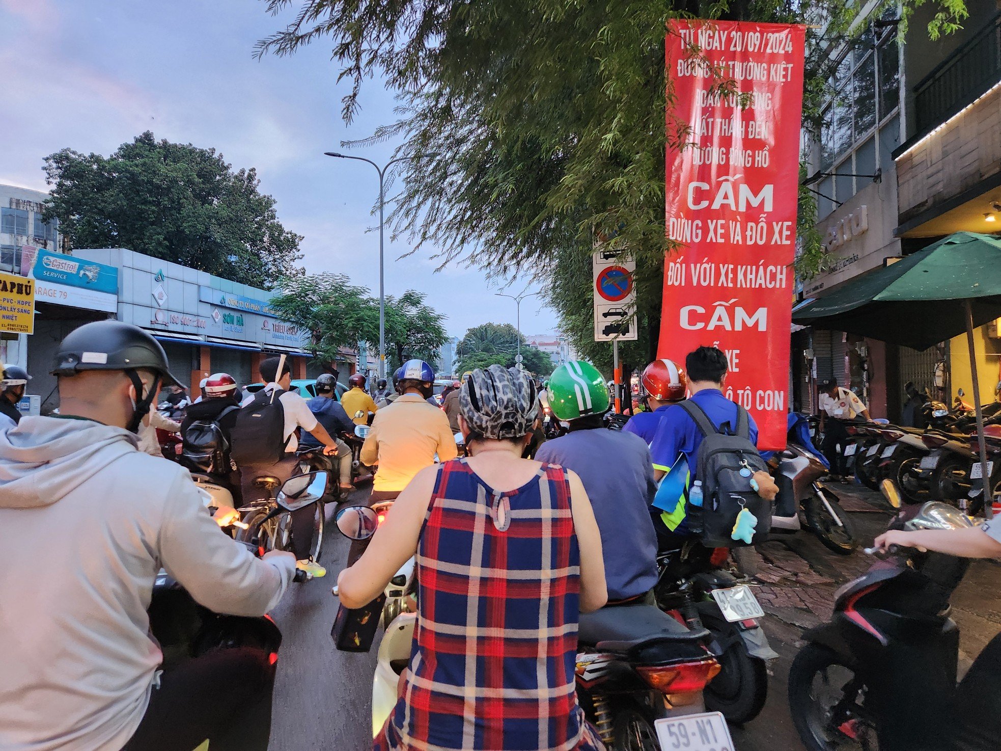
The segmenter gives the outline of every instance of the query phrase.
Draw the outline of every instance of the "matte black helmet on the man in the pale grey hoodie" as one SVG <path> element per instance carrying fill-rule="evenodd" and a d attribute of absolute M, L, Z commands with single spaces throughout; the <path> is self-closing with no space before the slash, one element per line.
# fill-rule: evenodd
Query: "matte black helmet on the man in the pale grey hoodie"
<path fill-rule="evenodd" d="M 142 395 L 142 382 L 137 369 L 157 374 L 149 394 Z M 160 385 L 180 386 L 167 366 L 167 353 L 160 342 L 138 326 L 118 320 L 95 320 L 84 323 L 66 334 L 53 360 L 52 374 L 70 378 L 83 370 L 122 370 L 140 398 L 135 403 L 132 420 L 127 426 L 135 433 L 149 412 Z"/>

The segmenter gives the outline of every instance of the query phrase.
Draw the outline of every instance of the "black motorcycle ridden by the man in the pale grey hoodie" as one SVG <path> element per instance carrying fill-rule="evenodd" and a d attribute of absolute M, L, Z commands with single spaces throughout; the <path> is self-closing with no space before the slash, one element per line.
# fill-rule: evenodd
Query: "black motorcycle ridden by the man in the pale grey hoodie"
<path fill-rule="evenodd" d="M 323 479 L 322 482 L 326 482 Z M 318 483 L 309 482 L 303 486 L 301 478 L 292 478 L 278 492 L 274 517 L 305 508 L 315 503 Z M 203 495 L 208 505 L 209 499 Z M 261 548 L 257 532 L 266 522 L 261 519 L 246 530 L 247 548 L 259 556 Z M 296 571 L 293 581 L 307 581 L 309 575 Z M 153 583 L 149 602 L 149 629 L 163 653 L 162 668 L 170 670 L 179 662 L 199 657 L 215 649 L 236 649 L 252 647 L 268 653 L 270 664 L 278 659 L 281 632 L 267 616 L 247 617 L 221 615 L 198 605 L 191 595 L 165 571 L 160 571 Z"/>

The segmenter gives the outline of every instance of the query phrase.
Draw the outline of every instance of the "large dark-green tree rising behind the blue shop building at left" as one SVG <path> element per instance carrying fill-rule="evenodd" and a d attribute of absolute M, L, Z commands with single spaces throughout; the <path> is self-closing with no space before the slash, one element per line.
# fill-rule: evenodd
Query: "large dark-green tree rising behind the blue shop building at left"
<path fill-rule="evenodd" d="M 64 148 L 45 157 L 45 218 L 75 247 L 127 247 L 254 286 L 295 267 L 300 235 L 278 221 L 254 169 L 146 131 L 113 154 Z"/>

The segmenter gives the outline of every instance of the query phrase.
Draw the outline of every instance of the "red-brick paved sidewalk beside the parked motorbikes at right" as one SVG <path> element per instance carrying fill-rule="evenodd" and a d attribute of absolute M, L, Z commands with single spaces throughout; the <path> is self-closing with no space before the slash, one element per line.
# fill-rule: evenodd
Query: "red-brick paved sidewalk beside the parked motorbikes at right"
<path fill-rule="evenodd" d="M 773 535 L 758 547 L 761 586 L 755 594 L 765 612 L 793 627 L 793 633 L 830 620 L 835 592 L 869 569 L 872 560 L 862 548 L 872 545 L 890 520 L 891 510 L 878 493 L 860 485 L 832 485 L 831 490 L 851 513 L 859 538 L 859 548 L 851 556 L 832 553 L 806 531 Z M 1001 631 L 1001 566 L 973 562 L 952 597 L 952 606 L 965 671 L 969 661 Z"/>

